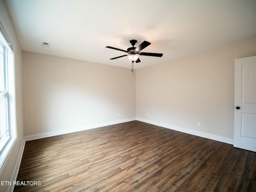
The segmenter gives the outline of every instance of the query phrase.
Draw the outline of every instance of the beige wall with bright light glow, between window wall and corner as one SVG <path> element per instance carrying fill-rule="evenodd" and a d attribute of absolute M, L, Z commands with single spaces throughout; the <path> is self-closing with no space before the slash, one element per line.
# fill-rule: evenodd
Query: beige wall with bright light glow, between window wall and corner
<path fill-rule="evenodd" d="M 25 51 L 22 58 L 25 136 L 135 119 L 129 69 Z"/>

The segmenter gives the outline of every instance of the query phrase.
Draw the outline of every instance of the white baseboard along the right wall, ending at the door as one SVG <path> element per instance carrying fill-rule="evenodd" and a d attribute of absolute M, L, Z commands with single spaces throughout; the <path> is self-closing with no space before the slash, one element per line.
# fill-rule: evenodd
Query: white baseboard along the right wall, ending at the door
<path fill-rule="evenodd" d="M 196 130 L 181 128 L 181 127 L 178 127 L 178 126 L 164 124 L 164 123 L 151 121 L 151 120 L 147 120 L 147 119 L 143 119 L 143 118 L 136 118 L 136 120 L 142 121 L 142 122 L 145 122 L 145 123 L 149 123 L 149 124 L 153 124 L 153 125 L 157 125 L 157 126 L 160 126 L 160 127 L 164 127 L 164 128 L 168 128 L 168 129 L 172 129 L 172 130 L 192 134 L 192 135 L 195 135 L 195 136 L 200 136 L 200 137 L 203 137 L 203 138 L 212 139 L 212 140 L 215 140 L 215 141 L 220 141 L 220 142 L 224 142 L 224 143 L 228 143 L 228 144 L 232 144 L 232 145 L 234 144 L 233 139 L 218 136 L 218 135 L 213 135 L 213 134 L 200 132 L 200 131 L 196 131 Z"/>

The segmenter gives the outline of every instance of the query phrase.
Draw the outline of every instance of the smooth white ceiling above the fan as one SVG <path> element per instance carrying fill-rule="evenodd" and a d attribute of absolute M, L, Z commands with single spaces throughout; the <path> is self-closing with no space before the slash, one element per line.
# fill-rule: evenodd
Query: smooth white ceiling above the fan
<path fill-rule="evenodd" d="M 256 37 L 256 0 L 6 0 L 22 50 L 131 67 L 110 60 L 130 40 L 142 52 L 134 68 L 174 60 Z M 50 43 L 43 47 L 42 42 Z"/>

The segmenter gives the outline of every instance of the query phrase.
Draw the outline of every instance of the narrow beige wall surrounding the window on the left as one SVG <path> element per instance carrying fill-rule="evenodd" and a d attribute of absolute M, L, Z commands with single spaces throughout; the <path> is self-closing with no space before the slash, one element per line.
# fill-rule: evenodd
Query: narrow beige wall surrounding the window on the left
<path fill-rule="evenodd" d="M 17 140 L 14 143 L 14 146 L 6 159 L 6 164 L 1 169 L 2 173 L 0 174 L 0 181 L 10 181 L 15 172 L 17 165 L 17 160 L 20 156 L 22 142 L 23 142 L 23 114 L 22 114 L 22 51 L 20 44 L 14 32 L 12 23 L 10 22 L 9 15 L 6 11 L 3 0 L 0 0 L 0 16 L 4 21 L 6 30 L 8 31 L 10 38 L 15 44 L 15 94 L 16 94 L 16 124 L 17 124 Z M 10 186 L 0 185 L 0 191 L 7 191 Z"/>

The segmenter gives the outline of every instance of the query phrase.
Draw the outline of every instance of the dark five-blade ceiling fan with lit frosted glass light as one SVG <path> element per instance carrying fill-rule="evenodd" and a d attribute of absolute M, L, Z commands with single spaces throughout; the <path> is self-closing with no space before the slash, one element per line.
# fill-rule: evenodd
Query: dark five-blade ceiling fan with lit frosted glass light
<path fill-rule="evenodd" d="M 151 43 L 147 42 L 147 41 L 144 41 L 138 47 L 134 47 L 136 42 L 137 42 L 137 40 L 130 40 L 130 43 L 132 44 L 132 47 L 129 47 L 127 49 L 127 51 L 126 50 L 122 50 L 122 49 L 118 49 L 118 48 L 115 48 L 115 47 L 111 47 L 111 46 L 106 46 L 106 48 L 110 48 L 110 49 L 114 49 L 114 50 L 123 51 L 123 52 L 128 53 L 126 55 L 122 55 L 122 56 L 111 58 L 111 60 L 117 59 L 117 58 L 121 58 L 121 57 L 124 57 L 124 56 L 128 56 L 129 60 L 132 62 L 132 72 L 133 72 L 133 63 L 134 62 L 136 62 L 136 63 L 140 62 L 140 58 L 139 58 L 140 55 L 143 55 L 143 56 L 153 56 L 153 57 L 162 57 L 163 56 L 162 53 L 140 52 L 141 50 L 143 50 L 144 48 L 149 46 Z"/>

